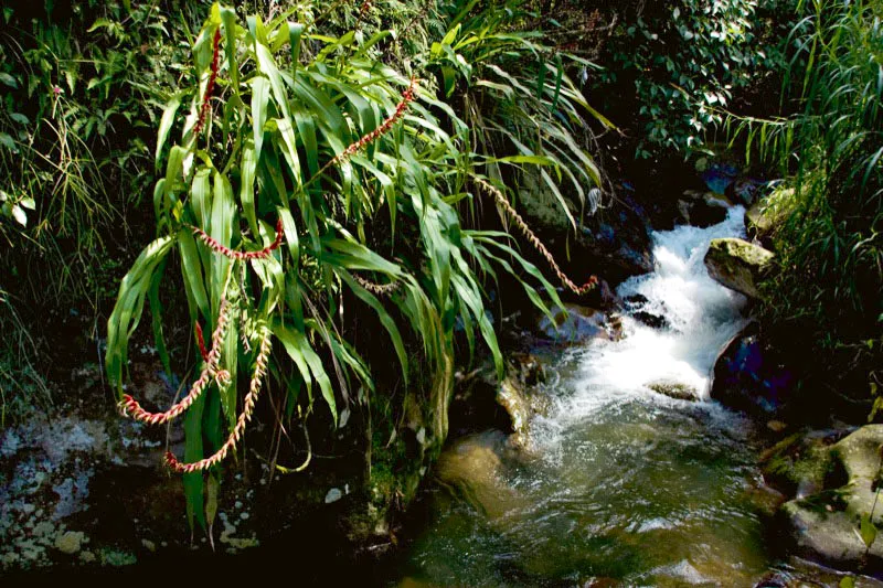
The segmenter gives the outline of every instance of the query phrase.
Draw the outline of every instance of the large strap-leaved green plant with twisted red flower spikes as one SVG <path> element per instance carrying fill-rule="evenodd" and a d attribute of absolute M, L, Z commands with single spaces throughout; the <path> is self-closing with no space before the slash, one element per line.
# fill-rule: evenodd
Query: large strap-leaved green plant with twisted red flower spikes
<path fill-rule="evenodd" d="M 449 381 L 456 324 L 470 351 L 480 333 L 502 371 L 481 278 L 503 268 L 545 312 L 525 280 L 560 303 L 509 235 L 461 226 L 455 204 L 471 197 L 470 186 L 480 184 L 500 204 L 506 199 L 479 172 L 487 158 L 474 153 L 467 124 L 435 97 L 432 82 L 384 63 L 377 45 L 390 32 L 332 38 L 288 22 L 292 13 L 266 23 L 249 17 L 243 25 L 232 9 L 212 8 L 194 44 L 200 84 L 174 96 L 159 128 L 159 236 L 123 280 L 108 321 L 107 371 L 120 409 L 151 425 L 184 418 L 183 461 L 168 455 L 167 463 L 184 473 L 191 522 L 205 523 L 203 472 L 217 481 L 216 467 L 241 441 L 266 378 L 286 396 L 289 418 L 298 403 L 309 414 L 313 388 L 334 421 L 353 382 L 373 391 L 368 363 L 342 335 L 348 300 L 376 314 L 405 381 L 405 344 L 390 306 L 422 340 L 432 371 Z M 175 128 L 180 138 L 167 149 Z M 494 163 L 543 163 L 561 173 L 547 158 Z M 523 221 L 519 226 L 530 233 Z M 202 368 L 183 399 L 151 413 L 123 393 L 124 368 L 147 301 L 170 371 L 159 288 L 175 254 Z M 212 332 L 210 349 L 202 324 Z M 272 360 L 275 341 L 280 353 Z M 433 387 L 436 446 L 447 435 L 448 399 L 449 386 Z"/>

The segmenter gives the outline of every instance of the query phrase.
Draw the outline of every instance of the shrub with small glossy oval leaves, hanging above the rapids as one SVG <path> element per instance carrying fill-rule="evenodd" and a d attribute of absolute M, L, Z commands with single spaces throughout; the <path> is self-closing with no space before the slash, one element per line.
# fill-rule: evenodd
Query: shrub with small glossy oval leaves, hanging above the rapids
<path fill-rule="evenodd" d="M 776 22 L 762 18 L 765 11 L 787 17 L 778 4 L 678 0 L 624 10 L 605 47 L 609 64 L 589 75 L 588 86 L 624 100 L 615 110 L 621 116 L 637 115 L 638 158 L 660 149 L 702 150 L 706 135 L 723 122 L 721 109 L 767 72 L 781 70 L 779 40 L 770 30 Z"/>

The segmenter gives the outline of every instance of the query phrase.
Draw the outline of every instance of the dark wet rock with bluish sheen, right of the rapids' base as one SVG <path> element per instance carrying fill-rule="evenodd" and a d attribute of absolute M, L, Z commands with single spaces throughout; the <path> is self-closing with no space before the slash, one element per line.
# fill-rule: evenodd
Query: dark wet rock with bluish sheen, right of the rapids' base
<path fill-rule="evenodd" d="M 749 324 L 724 349 L 714 364 L 711 397 L 765 419 L 778 416 L 794 393 L 795 373 L 779 353 Z"/>

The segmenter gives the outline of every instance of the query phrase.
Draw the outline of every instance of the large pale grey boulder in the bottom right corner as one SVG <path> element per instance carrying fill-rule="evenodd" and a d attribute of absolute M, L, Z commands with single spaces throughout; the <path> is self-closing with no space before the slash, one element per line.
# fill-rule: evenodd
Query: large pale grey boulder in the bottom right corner
<path fill-rule="evenodd" d="M 876 537 L 883 527 L 876 505 L 881 446 L 883 425 L 860 428 L 831 448 L 834 474 L 826 488 L 785 503 L 786 533 L 797 555 L 840 569 L 883 569 L 883 538 Z"/>

